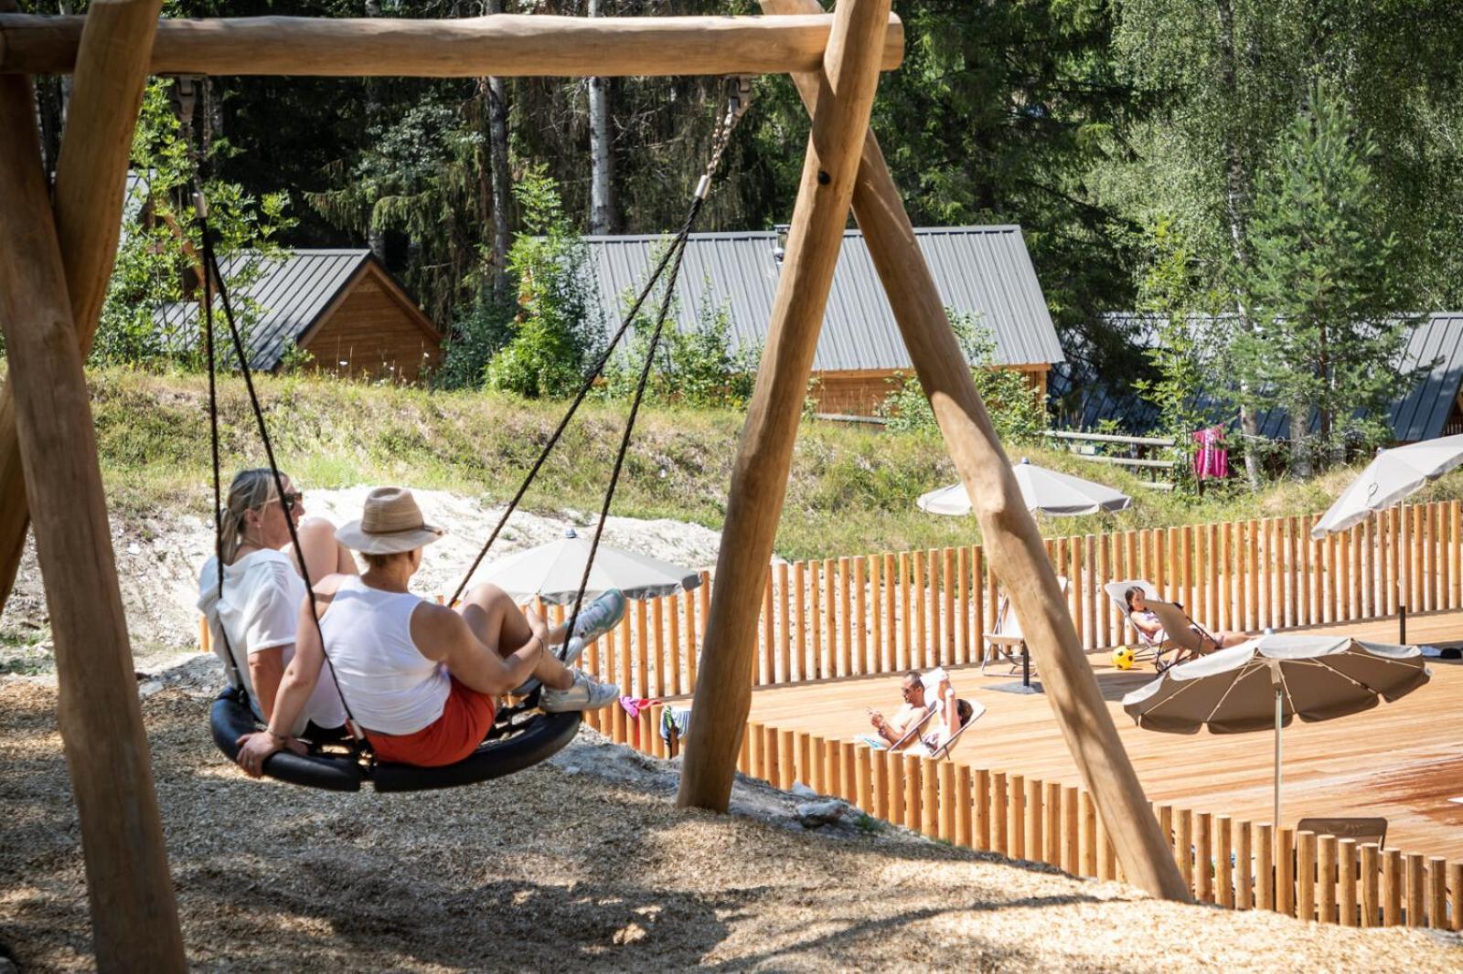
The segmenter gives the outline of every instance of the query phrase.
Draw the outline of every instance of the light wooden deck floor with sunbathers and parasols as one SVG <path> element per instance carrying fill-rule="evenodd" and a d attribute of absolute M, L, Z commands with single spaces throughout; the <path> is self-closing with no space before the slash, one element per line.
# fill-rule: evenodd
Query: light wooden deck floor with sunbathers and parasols
<path fill-rule="evenodd" d="M 1314 632 L 1396 642 L 1396 620 L 1350 623 Z M 1463 613 L 1415 616 L 1409 642 L 1463 639 Z M 1122 712 L 1128 690 L 1153 679 L 1151 665 L 1118 671 L 1106 655 L 1090 657 L 1113 721 L 1150 800 L 1230 815 L 1236 820 L 1271 818 L 1274 734 L 1195 736 L 1140 730 Z M 1432 680 L 1396 703 L 1320 724 L 1295 721 L 1285 730 L 1283 815 L 1384 816 L 1387 844 L 1409 853 L 1463 858 L 1463 664 L 1428 661 Z M 986 705 L 954 760 L 1043 781 L 1081 784 L 1045 696 L 993 690 L 1020 680 L 1005 667 L 955 670 L 961 696 Z M 758 689 L 751 720 L 796 728 L 830 740 L 868 733 L 866 712 L 898 706 L 900 677 L 879 676 Z"/>

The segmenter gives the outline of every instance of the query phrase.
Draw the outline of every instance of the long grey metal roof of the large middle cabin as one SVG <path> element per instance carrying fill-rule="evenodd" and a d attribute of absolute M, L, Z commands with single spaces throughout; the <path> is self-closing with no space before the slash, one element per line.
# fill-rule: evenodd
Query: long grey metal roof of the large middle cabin
<path fill-rule="evenodd" d="M 916 230 L 947 307 L 976 314 L 995 336 L 996 360 L 1009 366 L 1062 361 L 1062 345 L 1042 297 L 1020 227 Z M 664 237 L 585 237 L 591 291 L 607 323 L 619 322 L 626 292 L 644 285 Z M 677 328 L 696 325 L 707 301 L 727 306 L 737 348 L 758 348 L 777 292 L 777 231 L 692 234 L 676 284 Z M 911 369 L 873 260 L 857 230 L 844 231 L 813 371 Z"/>

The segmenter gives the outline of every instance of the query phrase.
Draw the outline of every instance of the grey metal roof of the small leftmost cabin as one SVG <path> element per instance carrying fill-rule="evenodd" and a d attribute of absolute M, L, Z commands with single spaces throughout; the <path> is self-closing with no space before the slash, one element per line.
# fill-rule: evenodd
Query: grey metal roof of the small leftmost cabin
<path fill-rule="evenodd" d="M 256 281 L 230 290 L 234 312 L 244 301 L 259 310 L 259 320 L 246 335 L 249 367 L 269 371 L 284 358 L 285 350 L 310 331 L 331 301 L 372 260 L 370 250 L 296 250 L 284 259 L 268 259 L 257 253 L 224 257 L 219 262 L 224 281 L 233 282 L 244 268 L 259 268 Z M 222 316 L 222 304 L 215 298 L 215 316 Z M 198 301 L 165 304 L 154 316 L 170 341 L 192 344 L 198 335 Z M 221 317 L 215 326 L 227 328 Z"/>

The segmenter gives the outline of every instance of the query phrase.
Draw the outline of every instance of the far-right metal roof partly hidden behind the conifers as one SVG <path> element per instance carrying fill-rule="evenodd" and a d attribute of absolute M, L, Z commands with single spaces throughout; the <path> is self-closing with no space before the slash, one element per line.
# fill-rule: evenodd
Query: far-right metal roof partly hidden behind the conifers
<path fill-rule="evenodd" d="M 1131 341 L 1150 347 L 1157 329 L 1141 314 L 1112 314 L 1115 325 L 1124 328 Z M 1077 355 L 1052 371 L 1049 385 L 1053 399 L 1065 398 L 1068 424 L 1077 429 L 1093 429 L 1102 420 L 1113 418 L 1129 433 L 1144 433 L 1157 423 L 1157 408 L 1135 396 L 1116 395 L 1107 383 L 1091 374 L 1091 370 L 1077 361 Z M 1406 395 L 1391 404 L 1388 423 L 1391 437 L 1397 443 L 1413 443 L 1443 436 L 1459 389 L 1463 386 L 1463 313 L 1435 312 L 1416 320 L 1399 357 L 1397 371 L 1416 374 L 1416 382 Z M 1208 399 L 1208 398 L 1206 398 Z M 1229 409 L 1213 399 L 1201 401 L 1200 409 L 1216 421 L 1238 424 L 1227 415 Z M 1286 409 L 1267 409 L 1255 417 L 1260 434 L 1270 439 L 1290 436 L 1290 414 Z M 1311 429 L 1318 424 L 1311 417 Z"/>

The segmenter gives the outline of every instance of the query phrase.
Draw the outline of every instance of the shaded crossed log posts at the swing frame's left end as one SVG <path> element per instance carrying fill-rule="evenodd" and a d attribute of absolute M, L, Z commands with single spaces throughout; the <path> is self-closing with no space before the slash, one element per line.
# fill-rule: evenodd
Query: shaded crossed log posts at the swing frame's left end
<path fill-rule="evenodd" d="M 0 429 L 9 437 L 13 421 L 19 516 L 26 497 L 35 516 L 99 970 L 186 970 L 78 344 L 78 325 L 95 329 L 116 256 L 158 9 L 158 0 L 92 3 L 54 216 L 31 85 L 0 78 L 0 328 L 13 404 Z M 0 503 L 7 516 L 12 503 Z"/>

